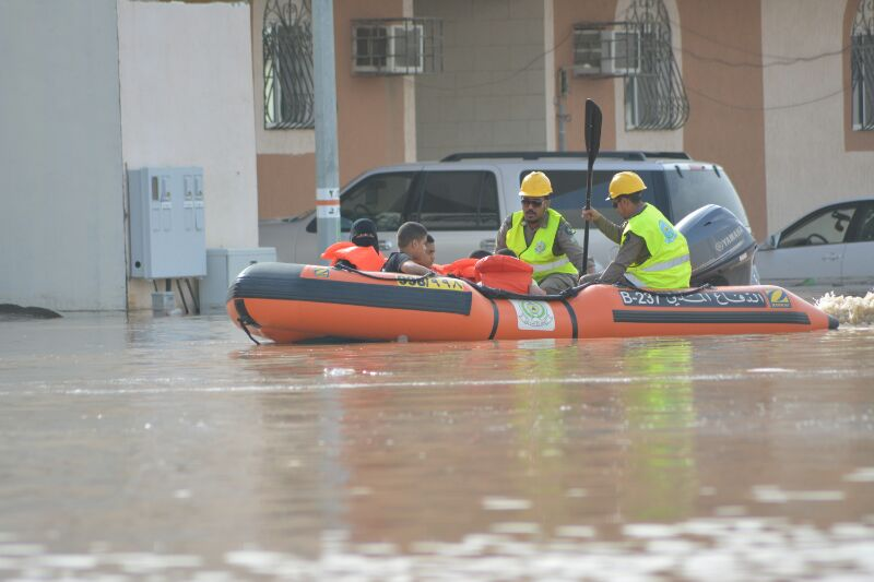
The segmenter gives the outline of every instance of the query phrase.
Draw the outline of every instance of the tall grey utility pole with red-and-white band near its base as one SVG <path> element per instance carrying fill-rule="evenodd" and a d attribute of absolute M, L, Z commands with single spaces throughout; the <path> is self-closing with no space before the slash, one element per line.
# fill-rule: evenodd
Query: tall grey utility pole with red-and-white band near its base
<path fill-rule="evenodd" d="M 316 76 L 316 225 L 321 252 L 340 240 L 333 0 L 312 0 L 312 52 Z"/>

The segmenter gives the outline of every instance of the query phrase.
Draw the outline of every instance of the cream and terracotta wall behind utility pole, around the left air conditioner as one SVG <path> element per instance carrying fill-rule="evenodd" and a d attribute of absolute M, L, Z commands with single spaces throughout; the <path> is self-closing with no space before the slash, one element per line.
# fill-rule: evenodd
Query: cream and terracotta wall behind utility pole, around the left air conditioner
<path fill-rule="evenodd" d="M 259 218 L 315 207 L 312 129 L 264 128 L 263 19 L 267 0 L 251 3 L 252 81 L 258 147 Z M 410 0 L 335 0 L 338 150 L 340 185 L 380 165 L 412 161 L 415 84 L 410 76 L 367 76 L 352 70 L 352 21 L 412 16 Z"/>

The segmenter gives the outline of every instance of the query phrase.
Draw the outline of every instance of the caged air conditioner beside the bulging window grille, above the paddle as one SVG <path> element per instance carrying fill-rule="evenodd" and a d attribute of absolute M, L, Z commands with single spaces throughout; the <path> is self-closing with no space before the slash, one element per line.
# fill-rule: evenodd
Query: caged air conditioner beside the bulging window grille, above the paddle
<path fill-rule="evenodd" d="M 622 76 L 640 70 L 640 35 L 628 31 L 574 31 L 574 74 Z"/>

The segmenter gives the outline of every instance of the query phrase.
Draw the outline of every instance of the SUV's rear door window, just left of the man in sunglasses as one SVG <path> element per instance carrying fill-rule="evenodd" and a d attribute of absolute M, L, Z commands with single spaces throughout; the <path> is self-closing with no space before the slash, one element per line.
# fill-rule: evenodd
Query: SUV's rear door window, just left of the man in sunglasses
<path fill-rule="evenodd" d="M 491 171 L 428 171 L 418 219 L 428 230 L 481 230 L 499 226 L 497 181 Z"/>

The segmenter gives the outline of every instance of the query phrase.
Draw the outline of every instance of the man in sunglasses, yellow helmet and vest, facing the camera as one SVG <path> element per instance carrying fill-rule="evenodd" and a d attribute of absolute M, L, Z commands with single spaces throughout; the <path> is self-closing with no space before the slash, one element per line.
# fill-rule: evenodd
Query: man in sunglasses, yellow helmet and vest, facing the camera
<path fill-rule="evenodd" d="M 553 187 L 542 171 L 522 180 L 519 197 L 522 210 L 507 216 L 495 240 L 495 251 L 510 249 L 534 268 L 533 277 L 547 294 L 577 284 L 582 268 L 582 248 L 565 218 L 550 207 Z"/>

